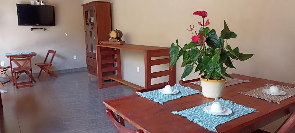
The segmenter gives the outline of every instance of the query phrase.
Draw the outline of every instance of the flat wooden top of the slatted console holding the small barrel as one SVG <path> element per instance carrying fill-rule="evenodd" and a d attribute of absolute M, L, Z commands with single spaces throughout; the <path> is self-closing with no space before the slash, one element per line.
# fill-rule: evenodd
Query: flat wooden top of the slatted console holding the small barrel
<path fill-rule="evenodd" d="M 118 48 L 118 49 L 125 49 L 125 50 L 131 50 L 131 51 L 139 51 L 139 52 L 150 52 L 150 51 L 170 49 L 168 47 L 145 46 L 145 45 L 135 45 L 135 44 L 121 44 L 121 45 L 100 44 L 96 46 L 107 47 L 107 48 Z"/>

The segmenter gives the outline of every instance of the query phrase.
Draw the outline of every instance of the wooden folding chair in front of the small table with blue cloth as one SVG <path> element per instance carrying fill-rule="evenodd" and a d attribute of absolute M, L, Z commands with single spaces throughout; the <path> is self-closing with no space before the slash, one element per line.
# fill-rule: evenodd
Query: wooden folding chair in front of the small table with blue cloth
<path fill-rule="evenodd" d="M 10 66 L 12 66 L 12 62 L 18 62 L 18 61 L 30 61 L 30 67 L 13 67 L 11 68 L 11 74 L 13 78 L 13 85 L 16 86 L 16 88 L 22 88 L 22 87 L 31 87 L 32 83 L 32 63 L 31 63 L 31 57 L 29 55 L 26 56 L 10 56 Z M 31 72 L 31 73 L 30 73 Z M 20 74 L 26 73 L 28 75 L 28 82 L 17 82 L 17 77 L 20 76 Z"/>

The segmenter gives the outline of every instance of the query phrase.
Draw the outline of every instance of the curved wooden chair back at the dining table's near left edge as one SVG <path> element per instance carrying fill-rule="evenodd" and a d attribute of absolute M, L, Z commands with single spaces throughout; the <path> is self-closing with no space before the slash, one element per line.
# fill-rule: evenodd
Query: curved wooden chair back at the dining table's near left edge
<path fill-rule="evenodd" d="M 144 133 L 141 129 L 135 131 L 132 129 L 129 129 L 123 125 L 121 125 L 115 116 L 114 112 L 111 109 L 106 110 L 106 115 L 109 117 L 109 119 L 114 124 L 115 128 L 117 129 L 118 133 Z"/>

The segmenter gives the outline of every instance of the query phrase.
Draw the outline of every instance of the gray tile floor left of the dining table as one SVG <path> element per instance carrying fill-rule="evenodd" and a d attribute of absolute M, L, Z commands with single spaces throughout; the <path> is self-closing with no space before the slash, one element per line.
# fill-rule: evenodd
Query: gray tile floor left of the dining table
<path fill-rule="evenodd" d="M 134 94 L 125 85 L 99 90 L 97 79 L 89 79 L 86 71 L 37 79 L 27 88 L 16 89 L 12 83 L 1 88 L 8 91 L 1 94 L 1 133 L 115 133 L 103 101 Z M 126 121 L 125 125 L 136 129 Z"/>

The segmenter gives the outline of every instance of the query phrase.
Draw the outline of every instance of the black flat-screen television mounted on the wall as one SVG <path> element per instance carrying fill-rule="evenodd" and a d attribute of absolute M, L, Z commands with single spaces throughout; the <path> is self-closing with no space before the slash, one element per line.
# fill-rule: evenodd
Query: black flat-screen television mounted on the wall
<path fill-rule="evenodd" d="M 55 25 L 54 6 L 17 4 L 19 25 Z"/>

